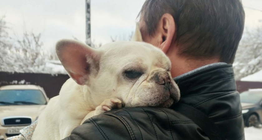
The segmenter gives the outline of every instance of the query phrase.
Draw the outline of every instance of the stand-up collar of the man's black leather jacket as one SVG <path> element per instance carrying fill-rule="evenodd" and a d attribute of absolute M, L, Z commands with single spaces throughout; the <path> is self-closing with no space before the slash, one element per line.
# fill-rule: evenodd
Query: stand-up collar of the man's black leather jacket
<path fill-rule="evenodd" d="M 224 80 L 227 79 L 229 81 L 225 82 Z M 235 83 L 227 86 L 228 82 L 235 82 L 235 79 L 232 65 L 226 63 L 206 65 L 175 77 L 174 80 L 180 89 L 181 97 L 236 90 L 236 86 L 231 86 L 235 85 Z"/>

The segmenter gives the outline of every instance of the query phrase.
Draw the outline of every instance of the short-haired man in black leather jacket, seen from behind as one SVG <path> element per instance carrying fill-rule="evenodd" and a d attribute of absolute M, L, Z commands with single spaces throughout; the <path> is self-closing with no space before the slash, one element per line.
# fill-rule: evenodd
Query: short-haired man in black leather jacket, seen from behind
<path fill-rule="evenodd" d="M 244 21 L 239 0 L 146 0 L 139 22 L 143 41 L 170 58 L 180 102 L 170 109 L 111 110 L 86 120 L 65 139 L 213 139 L 211 133 L 214 139 L 244 140 L 231 65 Z M 183 105 L 204 115 L 181 114 Z M 204 120 L 205 116 L 211 121 Z M 212 123 L 211 128 L 208 125 Z"/>

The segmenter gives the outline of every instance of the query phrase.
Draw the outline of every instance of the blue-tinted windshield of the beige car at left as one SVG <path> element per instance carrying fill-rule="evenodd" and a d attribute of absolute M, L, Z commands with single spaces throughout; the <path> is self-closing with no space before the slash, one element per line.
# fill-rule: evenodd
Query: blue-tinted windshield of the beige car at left
<path fill-rule="evenodd" d="M 45 105 L 46 99 L 40 90 L 1 90 L 0 105 Z"/>

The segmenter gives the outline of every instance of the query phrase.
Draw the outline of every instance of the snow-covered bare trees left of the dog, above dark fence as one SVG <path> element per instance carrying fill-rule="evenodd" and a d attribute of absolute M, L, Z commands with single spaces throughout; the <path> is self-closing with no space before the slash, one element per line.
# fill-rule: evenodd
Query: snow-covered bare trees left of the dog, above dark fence
<path fill-rule="evenodd" d="M 46 61 L 57 59 L 56 54 L 43 48 L 41 33 L 24 32 L 22 37 L 8 35 L 4 17 L 0 19 L 0 71 L 48 73 Z"/>

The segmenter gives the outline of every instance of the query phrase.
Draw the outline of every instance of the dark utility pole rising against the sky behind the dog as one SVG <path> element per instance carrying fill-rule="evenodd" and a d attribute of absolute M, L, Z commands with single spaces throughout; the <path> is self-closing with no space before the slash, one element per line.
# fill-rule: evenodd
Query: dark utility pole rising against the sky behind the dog
<path fill-rule="evenodd" d="M 91 46 L 90 1 L 85 0 L 85 43 Z"/>

